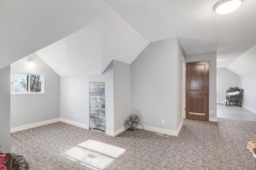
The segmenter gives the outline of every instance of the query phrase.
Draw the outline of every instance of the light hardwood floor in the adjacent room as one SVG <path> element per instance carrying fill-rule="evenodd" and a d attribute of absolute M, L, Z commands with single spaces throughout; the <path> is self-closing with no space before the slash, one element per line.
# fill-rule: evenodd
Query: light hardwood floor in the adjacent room
<path fill-rule="evenodd" d="M 256 121 L 256 114 L 238 105 L 217 104 L 217 118 Z"/>

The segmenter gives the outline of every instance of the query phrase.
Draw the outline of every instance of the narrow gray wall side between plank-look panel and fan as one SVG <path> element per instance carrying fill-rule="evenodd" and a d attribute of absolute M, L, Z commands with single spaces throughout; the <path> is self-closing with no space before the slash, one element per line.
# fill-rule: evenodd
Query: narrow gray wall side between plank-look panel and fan
<path fill-rule="evenodd" d="M 131 115 L 130 64 L 114 60 L 114 131 Z"/>

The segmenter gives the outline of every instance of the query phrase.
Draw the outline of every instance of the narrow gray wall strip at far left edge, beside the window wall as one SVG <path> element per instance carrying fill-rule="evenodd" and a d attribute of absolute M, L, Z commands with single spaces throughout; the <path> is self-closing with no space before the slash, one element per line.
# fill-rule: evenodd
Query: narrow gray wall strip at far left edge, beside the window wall
<path fill-rule="evenodd" d="M 0 142 L 2 151 L 10 152 L 10 65 L 0 69 L 0 79 Z"/>

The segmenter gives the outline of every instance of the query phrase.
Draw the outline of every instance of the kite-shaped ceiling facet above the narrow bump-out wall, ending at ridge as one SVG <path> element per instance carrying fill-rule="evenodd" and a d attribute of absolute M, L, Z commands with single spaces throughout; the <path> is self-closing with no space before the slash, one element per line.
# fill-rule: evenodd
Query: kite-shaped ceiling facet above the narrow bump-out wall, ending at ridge
<path fill-rule="evenodd" d="M 104 21 L 102 72 L 113 59 L 131 64 L 150 43 L 112 8 Z"/>

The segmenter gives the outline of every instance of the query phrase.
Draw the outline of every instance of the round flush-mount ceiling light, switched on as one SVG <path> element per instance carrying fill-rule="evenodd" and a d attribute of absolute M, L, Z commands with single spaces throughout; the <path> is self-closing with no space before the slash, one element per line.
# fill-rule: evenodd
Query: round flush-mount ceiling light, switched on
<path fill-rule="evenodd" d="M 236 10 L 244 0 L 220 0 L 213 6 L 213 10 L 218 14 L 228 14 Z"/>

